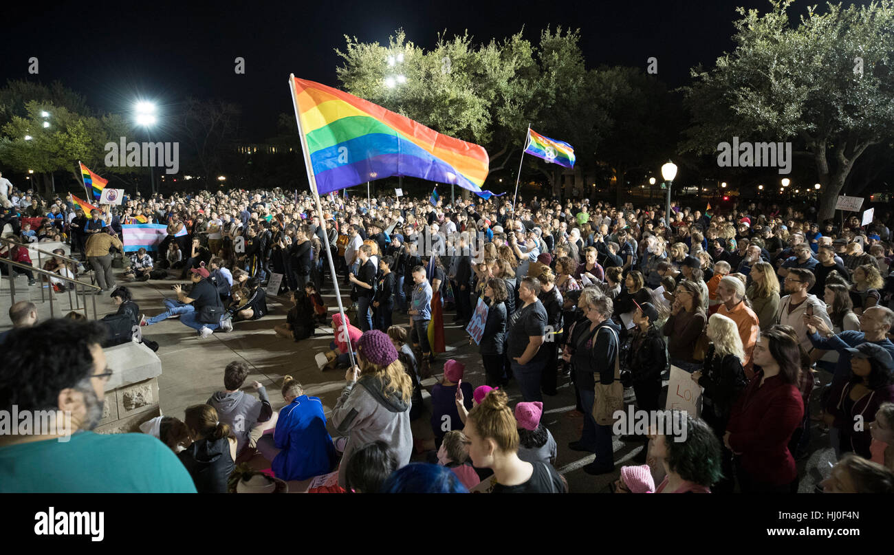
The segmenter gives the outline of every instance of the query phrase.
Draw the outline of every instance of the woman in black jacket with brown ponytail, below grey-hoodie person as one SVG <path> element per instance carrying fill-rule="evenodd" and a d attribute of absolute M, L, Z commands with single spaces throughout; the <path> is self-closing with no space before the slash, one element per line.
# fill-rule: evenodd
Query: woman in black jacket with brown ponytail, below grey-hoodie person
<path fill-rule="evenodd" d="M 183 424 L 192 444 L 177 456 L 190 472 L 199 493 L 226 493 L 227 479 L 236 468 L 236 438 L 230 425 L 219 421 L 211 405 L 193 405 Z"/>

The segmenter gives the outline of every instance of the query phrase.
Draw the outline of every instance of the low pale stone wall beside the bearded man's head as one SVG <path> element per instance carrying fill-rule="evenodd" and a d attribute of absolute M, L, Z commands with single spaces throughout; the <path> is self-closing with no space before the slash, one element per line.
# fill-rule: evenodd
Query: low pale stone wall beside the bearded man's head
<path fill-rule="evenodd" d="M 109 369 L 114 371 L 105 384 L 103 419 L 97 433 L 137 433 L 139 425 L 161 416 L 158 407 L 158 376 L 162 363 L 140 343 L 125 343 L 103 349 Z"/>

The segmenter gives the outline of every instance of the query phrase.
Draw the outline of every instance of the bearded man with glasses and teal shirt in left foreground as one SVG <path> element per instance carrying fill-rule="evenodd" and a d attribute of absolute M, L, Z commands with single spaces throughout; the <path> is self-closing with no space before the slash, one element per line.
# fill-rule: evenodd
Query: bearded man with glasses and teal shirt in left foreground
<path fill-rule="evenodd" d="M 0 434 L 0 492 L 195 493 L 173 451 L 146 433 L 94 433 L 113 371 L 98 322 L 48 320 L 0 348 L 0 410 L 19 434 Z M 24 416 L 33 424 L 24 434 Z"/>

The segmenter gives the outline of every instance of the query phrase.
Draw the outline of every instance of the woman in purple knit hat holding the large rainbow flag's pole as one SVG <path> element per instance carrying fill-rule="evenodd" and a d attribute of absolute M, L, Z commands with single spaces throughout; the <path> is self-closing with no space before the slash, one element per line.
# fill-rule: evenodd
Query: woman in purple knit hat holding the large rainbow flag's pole
<path fill-rule="evenodd" d="M 338 475 L 342 487 L 351 455 L 367 443 L 385 441 L 398 468 L 409 463 L 413 450 L 409 428 L 413 381 L 397 349 L 384 332 L 371 330 L 360 337 L 357 351 L 359 366 L 345 374 L 347 386 L 332 414 L 333 425 L 348 438 Z"/>

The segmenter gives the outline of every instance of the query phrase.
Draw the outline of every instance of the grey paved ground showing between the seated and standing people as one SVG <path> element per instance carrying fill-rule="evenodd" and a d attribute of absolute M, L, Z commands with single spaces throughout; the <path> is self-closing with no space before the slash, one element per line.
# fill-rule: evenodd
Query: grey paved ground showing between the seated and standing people
<path fill-rule="evenodd" d="M 133 290 L 134 300 L 142 312 L 156 315 L 162 312 L 162 299 L 173 297 L 171 286 L 186 280 L 168 279 L 166 281 L 126 283 Z M 10 304 L 8 280 L 0 283 L 0 331 L 10 327 L 7 309 Z M 120 283 L 124 283 L 120 281 Z M 27 280 L 23 277 L 16 281 L 17 296 L 21 299 L 23 290 L 39 307 L 41 317 L 49 316 L 48 303 L 40 302 L 37 286 L 27 288 Z M 342 291 L 344 302 L 350 304 L 347 292 Z M 325 291 L 325 301 L 334 312 L 335 301 L 332 290 Z M 68 312 L 67 295 L 63 297 L 62 313 L 60 306 L 55 307 L 55 314 Z M 115 308 L 107 295 L 97 296 L 97 314 L 114 312 Z M 285 320 L 288 307 L 278 299 L 268 299 L 270 314 L 255 322 L 235 324 L 230 333 L 215 332 L 207 340 L 202 340 L 190 328 L 180 324 L 177 319 L 169 319 L 159 324 L 143 328 L 143 334 L 159 343 L 158 356 L 162 361 L 163 374 L 158 378 L 159 395 L 162 412 L 165 415 L 181 416 L 183 409 L 197 403 L 204 403 L 212 393 L 223 389 L 223 367 L 232 360 L 243 359 L 254 371 L 249 374 L 246 383 L 257 380 L 266 386 L 274 409 L 283 406 L 280 393 L 283 376 L 289 374 L 302 383 L 308 393 L 323 400 L 327 416 L 330 414 L 335 400 L 344 386 L 344 371 L 333 370 L 320 372 L 317 369 L 314 355 L 328 349 L 332 335 L 320 333 L 315 338 L 295 342 L 277 337 L 273 332 L 274 324 Z M 92 307 L 90 307 L 92 317 Z M 430 389 L 435 378 L 440 378 L 443 362 L 455 358 L 466 365 L 464 380 L 477 387 L 485 383 L 485 374 L 481 359 L 474 347 L 469 346 L 468 336 L 456 325 L 451 325 L 452 315 L 445 315 L 445 332 L 448 352 L 439 357 L 434 365 L 435 377 L 423 382 Z M 405 315 L 395 315 L 394 324 L 404 324 Z M 593 460 L 593 456 L 584 456 L 568 449 L 568 442 L 579 437 L 581 418 L 569 417 L 574 409 L 575 399 L 573 386 L 567 377 L 560 377 L 558 395 L 544 397 L 544 424 L 550 429 L 559 445 L 559 457 L 556 467 L 565 475 L 571 492 L 605 492 L 608 485 L 618 477 L 620 467 L 633 464 L 633 458 L 641 449 L 640 443 L 623 442 L 615 438 L 615 466 L 617 470 L 611 475 L 591 476 L 580 468 Z M 512 405 L 521 400 L 518 387 L 510 383 L 508 388 Z M 628 391 L 628 395 L 630 392 Z M 426 402 L 427 391 L 424 393 Z M 417 440 L 431 440 L 433 433 L 429 425 L 430 414 L 420 416 L 413 423 L 413 431 Z M 329 425 L 330 433 L 336 434 L 333 425 Z M 799 463 L 806 467 L 802 472 L 804 478 L 801 492 L 813 492 L 814 484 L 829 473 L 828 461 L 834 460 L 831 450 L 825 448 L 828 438 L 814 430 L 809 460 Z M 414 458 L 424 458 L 417 454 Z M 253 461 L 258 467 L 266 467 L 263 461 Z"/>

